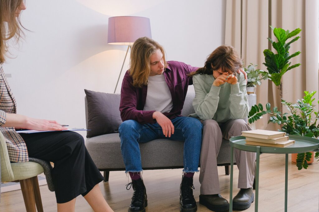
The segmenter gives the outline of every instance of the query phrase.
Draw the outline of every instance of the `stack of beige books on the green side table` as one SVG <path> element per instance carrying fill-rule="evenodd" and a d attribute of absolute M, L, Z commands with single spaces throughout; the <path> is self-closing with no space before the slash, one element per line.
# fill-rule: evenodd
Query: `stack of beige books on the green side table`
<path fill-rule="evenodd" d="M 289 140 L 285 132 L 270 130 L 250 130 L 241 132 L 246 137 L 246 144 L 265 147 L 288 147 L 295 143 Z"/>

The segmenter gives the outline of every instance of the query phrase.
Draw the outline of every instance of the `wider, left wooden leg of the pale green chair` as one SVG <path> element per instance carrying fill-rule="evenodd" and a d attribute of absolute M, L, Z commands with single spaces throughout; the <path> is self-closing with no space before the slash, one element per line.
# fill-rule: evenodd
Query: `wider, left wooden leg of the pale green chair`
<path fill-rule="evenodd" d="M 20 180 L 21 191 L 26 206 L 26 212 L 36 212 L 34 205 L 34 192 L 31 178 Z"/>

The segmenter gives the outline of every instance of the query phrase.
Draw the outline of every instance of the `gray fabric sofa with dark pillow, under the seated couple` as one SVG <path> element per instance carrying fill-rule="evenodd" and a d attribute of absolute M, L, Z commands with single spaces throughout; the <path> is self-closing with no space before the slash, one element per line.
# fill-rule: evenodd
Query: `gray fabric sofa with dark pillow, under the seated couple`
<path fill-rule="evenodd" d="M 104 171 L 108 181 L 110 171 L 125 170 L 121 154 L 118 127 L 120 95 L 85 90 L 85 117 L 87 131 L 85 146 L 100 171 Z M 194 113 L 192 100 L 195 93 L 187 93 L 183 116 Z M 105 129 L 108 130 L 105 131 Z M 172 142 L 167 139 L 152 140 L 140 144 L 142 167 L 147 169 L 183 168 L 183 141 Z M 230 146 L 223 140 L 217 158 L 219 166 L 225 166 L 229 174 Z"/>

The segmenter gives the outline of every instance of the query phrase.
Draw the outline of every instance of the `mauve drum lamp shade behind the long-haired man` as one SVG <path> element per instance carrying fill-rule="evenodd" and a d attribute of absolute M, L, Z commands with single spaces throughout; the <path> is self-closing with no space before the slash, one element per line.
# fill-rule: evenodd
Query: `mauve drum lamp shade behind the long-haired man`
<path fill-rule="evenodd" d="M 132 45 L 141 37 L 152 38 L 149 18 L 137 16 L 108 18 L 108 44 Z"/>

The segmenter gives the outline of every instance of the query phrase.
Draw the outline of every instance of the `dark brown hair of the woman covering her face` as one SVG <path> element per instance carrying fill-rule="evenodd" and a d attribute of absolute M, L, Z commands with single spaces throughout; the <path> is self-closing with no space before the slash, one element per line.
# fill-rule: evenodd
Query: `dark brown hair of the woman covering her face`
<path fill-rule="evenodd" d="M 195 74 L 212 74 L 213 71 L 221 68 L 222 72 L 232 71 L 233 74 L 242 67 L 243 63 L 233 46 L 221 45 L 207 57 L 204 67 L 191 72 Z"/>

